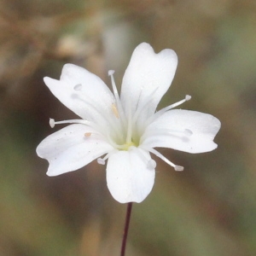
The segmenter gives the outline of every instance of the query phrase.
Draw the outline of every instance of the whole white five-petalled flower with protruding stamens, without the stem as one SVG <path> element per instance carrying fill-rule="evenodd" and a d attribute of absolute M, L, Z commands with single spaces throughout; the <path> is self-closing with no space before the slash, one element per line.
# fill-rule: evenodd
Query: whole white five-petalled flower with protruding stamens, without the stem
<path fill-rule="evenodd" d="M 172 110 L 190 96 L 155 112 L 170 87 L 177 67 L 172 49 L 159 54 L 149 44 L 139 44 L 125 71 L 120 97 L 109 71 L 113 93 L 102 79 L 82 67 L 66 64 L 61 79 L 44 78 L 49 90 L 81 119 L 55 122 L 73 124 L 46 137 L 38 145 L 38 156 L 49 161 L 49 176 L 72 172 L 92 160 L 107 166 L 107 183 L 116 201 L 141 202 L 154 185 L 155 154 L 176 171 L 174 165 L 154 148 L 173 148 L 202 153 L 217 148 L 213 138 L 218 119 L 207 113 Z M 100 158 L 105 155 L 103 158 Z"/>

